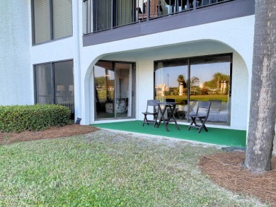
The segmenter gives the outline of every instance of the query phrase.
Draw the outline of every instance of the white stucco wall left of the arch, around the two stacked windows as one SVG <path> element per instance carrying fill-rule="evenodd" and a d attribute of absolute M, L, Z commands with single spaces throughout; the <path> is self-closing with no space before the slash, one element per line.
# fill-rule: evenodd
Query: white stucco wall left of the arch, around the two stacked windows
<path fill-rule="evenodd" d="M 74 59 L 75 112 L 81 111 L 79 28 L 82 1 L 72 0 L 73 37 L 32 45 L 31 1 L 0 1 L 0 105 L 34 103 L 33 65 Z"/>

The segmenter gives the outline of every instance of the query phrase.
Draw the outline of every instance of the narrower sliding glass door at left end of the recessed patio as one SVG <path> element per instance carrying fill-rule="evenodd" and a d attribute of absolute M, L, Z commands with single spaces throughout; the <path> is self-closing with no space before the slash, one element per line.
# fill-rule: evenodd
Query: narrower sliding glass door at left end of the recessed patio
<path fill-rule="evenodd" d="M 134 64 L 98 61 L 94 85 L 95 119 L 134 117 Z"/>

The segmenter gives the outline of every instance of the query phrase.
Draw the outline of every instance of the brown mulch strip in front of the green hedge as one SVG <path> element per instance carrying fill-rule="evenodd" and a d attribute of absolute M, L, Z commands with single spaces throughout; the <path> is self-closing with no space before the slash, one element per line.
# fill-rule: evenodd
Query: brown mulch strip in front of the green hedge
<path fill-rule="evenodd" d="M 99 129 L 95 126 L 71 124 L 59 127 L 50 127 L 44 131 L 23 131 L 21 133 L 0 133 L 0 144 L 14 143 L 18 141 L 31 141 L 43 138 L 58 138 L 88 134 Z"/>

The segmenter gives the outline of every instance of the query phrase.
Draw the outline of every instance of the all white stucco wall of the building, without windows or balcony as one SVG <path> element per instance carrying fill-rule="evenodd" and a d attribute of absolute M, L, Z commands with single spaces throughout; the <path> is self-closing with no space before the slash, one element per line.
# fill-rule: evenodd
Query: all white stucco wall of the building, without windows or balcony
<path fill-rule="evenodd" d="M 91 124 L 94 122 L 93 65 L 98 59 L 133 61 L 137 73 L 136 118 L 142 119 L 144 100 L 154 95 L 155 60 L 231 52 L 230 127 L 246 129 L 254 16 L 82 47 L 82 4 L 72 1 L 73 37 L 32 46 L 30 0 L 0 1 L 0 105 L 33 104 L 34 64 L 74 59 L 75 115 L 81 117 L 81 124 Z"/>

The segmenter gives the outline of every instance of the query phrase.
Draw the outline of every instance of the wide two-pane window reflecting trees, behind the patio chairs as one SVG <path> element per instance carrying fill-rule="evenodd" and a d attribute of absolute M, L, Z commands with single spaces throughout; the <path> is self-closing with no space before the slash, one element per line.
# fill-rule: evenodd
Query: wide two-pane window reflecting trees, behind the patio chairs
<path fill-rule="evenodd" d="M 198 101 L 212 102 L 207 122 L 230 124 L 231 54 L 156 61 L 155 99 L 178 103 L 176 118 L 190 122 Z"/>

